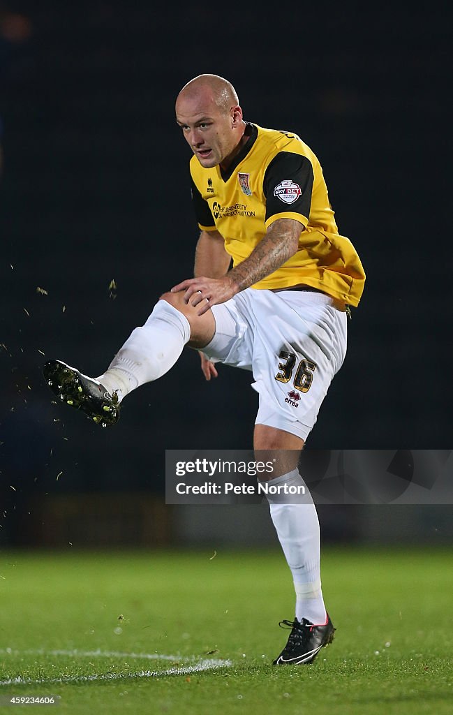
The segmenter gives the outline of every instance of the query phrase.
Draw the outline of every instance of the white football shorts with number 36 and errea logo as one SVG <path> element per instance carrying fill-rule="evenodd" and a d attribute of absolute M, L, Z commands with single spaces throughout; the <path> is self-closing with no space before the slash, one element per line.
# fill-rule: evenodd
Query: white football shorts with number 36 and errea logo
<path fill-rule="evenodd" d="M 346 353 L 344 305 L 310 290 L 247 288 L 211 310 L 216 332 L 206 357 L 252 370 L 256 424 L 306 440 Z"/>

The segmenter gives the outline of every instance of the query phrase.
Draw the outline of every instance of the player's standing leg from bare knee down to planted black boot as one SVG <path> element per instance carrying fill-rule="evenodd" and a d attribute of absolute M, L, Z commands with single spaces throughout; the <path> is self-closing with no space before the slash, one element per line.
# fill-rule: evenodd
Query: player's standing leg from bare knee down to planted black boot
<path fill-rule="evenodd" d="M 316 507 L 302 480 L 298 463 L 304 440 L 284 430 L 257 424 L 254 449 L 259 459 L 277 459 L 277 476 L 268 484 L 279 486 L 267 495 L 272 521 L 291 569 L 296 591 L 294 621 L 281 621 L 291 629 L 287 645 L 274 664 L 308 664 L 320 649 L 332 643 L 334 626 L 324 606 L 321 588 L 319 521 Z M 282 487 L 303 487 L 303 498 L 284 495 Z"/>

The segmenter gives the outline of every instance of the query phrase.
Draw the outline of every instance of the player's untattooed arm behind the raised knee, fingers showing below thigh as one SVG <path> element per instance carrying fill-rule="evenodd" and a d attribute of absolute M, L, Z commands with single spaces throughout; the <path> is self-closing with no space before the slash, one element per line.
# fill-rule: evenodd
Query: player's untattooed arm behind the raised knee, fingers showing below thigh
<path fill-rule="evenodd" d="M 229 270 L 232 257 L 225 250 L 223 237 L 218 231 L 201 231 L 195 250 L 194 277 L 206 275 L 220 278 Z M 206 380 L 218 377 L 214 363 L 199 350 L 201 371 Z"/>

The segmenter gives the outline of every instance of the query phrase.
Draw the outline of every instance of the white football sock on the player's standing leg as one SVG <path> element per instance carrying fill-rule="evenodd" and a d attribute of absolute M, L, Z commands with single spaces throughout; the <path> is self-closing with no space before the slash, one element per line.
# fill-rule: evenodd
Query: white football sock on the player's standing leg
<path fill-rule="evenodd" d="M 299 471 L 269 480 L 267 484 L 303 485 L 306 503 L 294 503 L 294 495 L 267 494 L 272 521 L 292 572 L 296 591 L 296 618 L 326 623 L 327 613 L 321 588 L 319 521 L 312 497 Z M 286 500 L 286 503 L 285 503 Z M 307 501 L 309 503 L 307 503 Z M 293 503 L 291 503 L 293 502 Z"/>

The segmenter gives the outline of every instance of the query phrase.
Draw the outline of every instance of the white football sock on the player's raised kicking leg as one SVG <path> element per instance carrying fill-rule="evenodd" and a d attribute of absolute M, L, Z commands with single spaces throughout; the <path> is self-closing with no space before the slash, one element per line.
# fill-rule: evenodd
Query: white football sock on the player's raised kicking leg
<path fill-rule="evenodd" d="M 131 392 L 157 380 L 173 367 L 190 339 L 189 320 L 179 310 L 159 300 L 143 327 L 131 332 L 99 383 L 121 400 Z"/>

